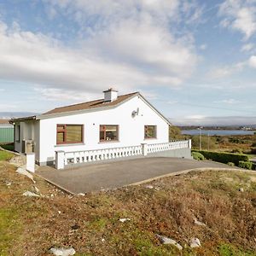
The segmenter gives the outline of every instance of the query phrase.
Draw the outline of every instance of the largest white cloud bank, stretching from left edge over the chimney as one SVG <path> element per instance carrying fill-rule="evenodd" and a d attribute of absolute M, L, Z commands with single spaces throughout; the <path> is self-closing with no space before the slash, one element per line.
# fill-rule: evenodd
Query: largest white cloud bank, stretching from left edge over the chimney
<path fill-rule="evenodd" d="M 174 37 L 169 30 L 172 15 L 178 15 L 177 1 L 54 0 L 49 8 L 50 19 L 60 8 L 67 19 L 81 12 L 81 19 L 88 18 L 86 13 L 102 16 L 86 27 L 90 37 L 81 37 L 72 47 L 0 21 L 2 79 L 37 84 L 36 90 L 49 98 L 67 95 L 75 100 L 84 94 L 99 96 L 110 85 L 121 93 L 152 85 L 178 86 L 197 65 L 191 35 Z"/>

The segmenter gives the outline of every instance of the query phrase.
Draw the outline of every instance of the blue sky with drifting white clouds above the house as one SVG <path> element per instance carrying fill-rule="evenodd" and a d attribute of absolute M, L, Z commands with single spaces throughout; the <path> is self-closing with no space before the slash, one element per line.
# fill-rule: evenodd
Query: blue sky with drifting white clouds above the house
<path fill-rule="evenodd" d="M 171 119 L 256 123 L 256 0 L 0 0 L 0 112 L 110 87 Z"/>

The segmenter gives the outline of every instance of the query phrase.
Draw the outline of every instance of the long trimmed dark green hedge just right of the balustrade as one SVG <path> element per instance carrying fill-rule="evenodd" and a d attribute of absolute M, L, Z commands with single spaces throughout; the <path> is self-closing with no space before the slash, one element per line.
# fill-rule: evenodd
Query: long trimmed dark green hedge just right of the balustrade
<path fill-rule="evenodd" d="M 236 166 L 239 165 L 239 161 L 249 161 L 249 158 L 246 154 L 232 154 L 226 152 L 213 152 L 205 150 L 193 150 L 193 152 L 201 153 L 206 159 L 217 161 L 220 163 L 227 164 L 229 162 L 234 163 Z"/>

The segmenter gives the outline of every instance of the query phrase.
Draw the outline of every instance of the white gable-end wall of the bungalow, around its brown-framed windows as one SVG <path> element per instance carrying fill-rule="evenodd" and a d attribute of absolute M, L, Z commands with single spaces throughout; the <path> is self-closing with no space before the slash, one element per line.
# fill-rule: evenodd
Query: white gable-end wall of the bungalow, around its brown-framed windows
<path fill-rule="evenodd" d="M 139 114 L 134 118 L 132 111 Z M 56 145 L 56 125 L 84 125 L 84 143 Z M 119 142 L 99 141 L 100 125 L 119 125 Z M 157 126 L 156 139 L 144 139 L 144 125 Z M 55 151 L 65 152 L 91 150 L 100 148 L 119 148 L 137 146 L 141 143 L 168 143 L 169 127 L 139 96 L 131 98 L 117 108 L 96 110 L 90 113 L 77 113 L 67 116 L 40 120 L 40 163 L 55 160 Z"/>

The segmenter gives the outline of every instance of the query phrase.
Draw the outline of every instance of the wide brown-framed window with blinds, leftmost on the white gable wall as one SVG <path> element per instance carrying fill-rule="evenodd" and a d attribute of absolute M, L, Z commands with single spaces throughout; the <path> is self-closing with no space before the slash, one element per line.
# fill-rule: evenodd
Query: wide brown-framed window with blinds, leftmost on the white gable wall
<path fill-rule="evenodd" d="M 57 144 L 83 143 L 84 125 L 57 125 Z"/>

